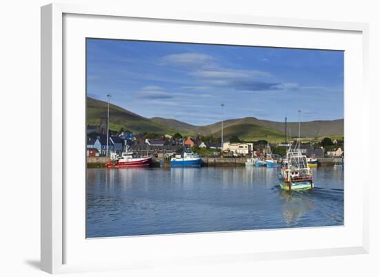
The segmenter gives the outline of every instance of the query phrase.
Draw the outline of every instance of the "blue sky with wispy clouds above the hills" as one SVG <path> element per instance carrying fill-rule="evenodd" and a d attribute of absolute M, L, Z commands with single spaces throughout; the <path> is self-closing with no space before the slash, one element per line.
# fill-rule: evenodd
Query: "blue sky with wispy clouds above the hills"
<path fill-rule="evenodd" d="M 143 117 L 343 118 L 343 52 L 88 39 L 87 93 Z M 224 116 L 221 104 L 225 104 Z"/>

